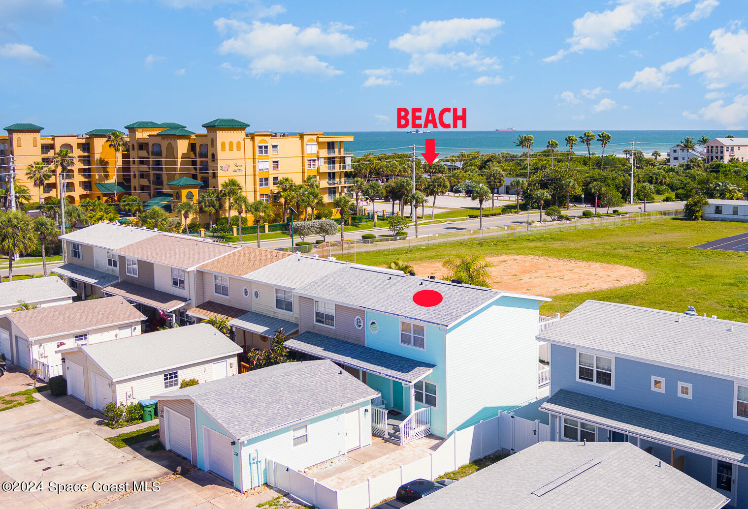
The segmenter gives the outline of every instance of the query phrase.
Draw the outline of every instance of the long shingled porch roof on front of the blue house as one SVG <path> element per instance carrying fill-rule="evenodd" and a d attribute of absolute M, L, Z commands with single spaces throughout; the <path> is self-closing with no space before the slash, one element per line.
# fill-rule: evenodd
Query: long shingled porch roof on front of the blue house
<path fill-rule="evenodd" d="M 649 436 L 686 450 L 693 449 L 705 454 L 728 457 L 738 463 L 747 463 L 748 435 L 735 431 L 726 431 L 565 389 L 555 392 L 548 401 L 540 405 L 540 410 L 595 422 L 624 433 Z"/>

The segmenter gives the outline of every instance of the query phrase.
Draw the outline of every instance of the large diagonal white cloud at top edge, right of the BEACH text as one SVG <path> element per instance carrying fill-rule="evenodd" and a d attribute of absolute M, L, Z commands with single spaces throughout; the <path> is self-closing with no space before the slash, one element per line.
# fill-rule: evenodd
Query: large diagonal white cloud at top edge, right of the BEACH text
<path fill-rule="evenodd" d="M 619 0 L 613 9 L 587 12 L 571 23 L 574 34 L 569 37 L 567 49 L 544 58 L 544 62 L 559 61 L 571 52 L 586 49 L 606 49 L 619 40 L 619 34 L 636 28 L 648 19 L 661 16 L 668 7 L 677 7 L 689 0 Z"/>

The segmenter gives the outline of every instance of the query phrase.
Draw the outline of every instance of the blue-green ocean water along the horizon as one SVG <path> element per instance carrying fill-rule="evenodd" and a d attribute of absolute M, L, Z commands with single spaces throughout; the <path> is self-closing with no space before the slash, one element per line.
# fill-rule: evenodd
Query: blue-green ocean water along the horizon
<path fill-rule="evenodd" d="M 597 133 L 599 131 L 595 131 Z M 456 154 L 461 151 L 472 152 L 519 152 L 515 141 L 521 135 L 533 135 L 535 144 L 533 149 L 545 149 L 548 140 L 559 142 L 559 150 L 567 150 L 564 145 L 564 138 L 568 135 L 580 137 L 582 132 L 579 131 L 446 131 L 436 130 L 431 133 L 410 134 L 403 129 L 402 131 L 367 131 L 367 132 L 328 132 L 330 135 L 353 135 L 353 142 L 346 143 L 346 152 L 353 152 L 355 156 L 364 155 L 367 152 L 392 153 L 392 152 L 410 152 L 411 146 L 416 145 L 416 152 L 423 152 L 423 146 L 426 138 L 432 138 L 436 141 L 436 152 L 440 152 L 441 157 L 450 154 Z M 608 131 L 611 136 L 610 144 L 605 148 L 606 154 L 621 155 L 624 149 L 631 149 L 631 141 L 634 141 L 634 148 L 642 150 L 646 155 L 651 154 L 654 150 L 659 150 L 662 157 L 666 156 L 667 151 L 682 139 L 690 136 L 694 141 L 698 141 L 702 136 L 707 138 L 723 138 L 726 135 L 733 135 L 735 138 L 748 138 L 748 131 L 725 129 L 721 131 Z M 600 144 L 594 142 L 590 148 L 592 152 L 600 154 Z M 574 146 L 574 152 L 583 153 L 587 151 L 586 145 Z"/>

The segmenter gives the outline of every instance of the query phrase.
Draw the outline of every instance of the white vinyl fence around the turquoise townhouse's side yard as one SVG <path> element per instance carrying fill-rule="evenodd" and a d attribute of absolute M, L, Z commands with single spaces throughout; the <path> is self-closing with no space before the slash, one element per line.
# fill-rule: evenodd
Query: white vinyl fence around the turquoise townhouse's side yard
<path fill-rule="evenodd" d="M 268 484 L 320 509 L 366 509 L 395 496 L 397 488 L 415 479 L 435 479 L 460 466 L 506 449 L 521 451 L 551 437 L 550 427 L 510 413 L 455 431 L 436 451 L 408 465 L 369 478 L 345 490 L 333 490 L 274 460 L 267 460 Z"/>

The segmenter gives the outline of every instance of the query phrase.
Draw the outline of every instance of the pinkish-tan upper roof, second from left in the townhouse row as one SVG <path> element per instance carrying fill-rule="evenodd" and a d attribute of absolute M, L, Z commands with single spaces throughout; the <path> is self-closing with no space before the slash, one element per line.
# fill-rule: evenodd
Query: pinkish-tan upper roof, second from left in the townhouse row
<path fill-rule="evenodd" d="M 201 241 L 186 235 L 162 234 L 129 244 L 117 250 L 117 253 L 147 262 L 191 270 L 196 265 L 233 253 L 236 249 L 239 248 L 213 241 Z"/>

